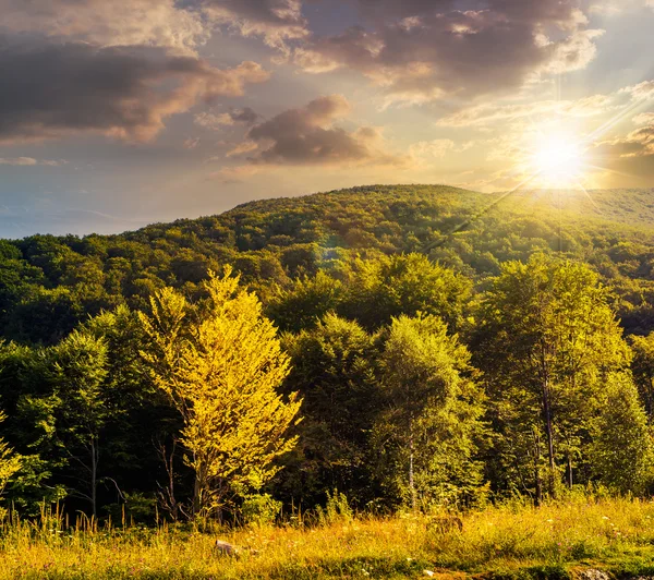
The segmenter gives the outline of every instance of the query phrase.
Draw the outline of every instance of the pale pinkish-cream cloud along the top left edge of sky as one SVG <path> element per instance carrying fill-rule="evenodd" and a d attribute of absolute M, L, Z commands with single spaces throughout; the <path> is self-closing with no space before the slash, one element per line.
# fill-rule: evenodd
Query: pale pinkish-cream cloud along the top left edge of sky
<path fill-rule="evenodd" d="M 108 46 L 162 46 L 190 52 L 209 37 L 199 12 L 175 0 L 0 0 L 0 27 Z"/>

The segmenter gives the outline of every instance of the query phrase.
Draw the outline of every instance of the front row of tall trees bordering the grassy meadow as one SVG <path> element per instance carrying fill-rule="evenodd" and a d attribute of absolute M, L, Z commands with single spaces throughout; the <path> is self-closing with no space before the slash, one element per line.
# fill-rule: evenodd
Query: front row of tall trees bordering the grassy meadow
<path fill-rule="evenodd" d="M 255 290 L 221 266 L 4 341 L 3 504 L 247 519 L 335 490 L 393 510 L 654 485 L 654 335 L 625 337 L 589 264 L 346 256 Z"/>

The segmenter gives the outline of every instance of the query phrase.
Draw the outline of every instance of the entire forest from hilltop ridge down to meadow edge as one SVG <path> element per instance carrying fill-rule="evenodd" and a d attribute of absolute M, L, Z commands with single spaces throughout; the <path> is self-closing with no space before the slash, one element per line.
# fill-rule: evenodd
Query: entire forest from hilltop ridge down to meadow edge
<path fill-rule="evenodd" d="M 0 240 L 2 517 L 649 497 L 651 196 L 378 185 Z"/>

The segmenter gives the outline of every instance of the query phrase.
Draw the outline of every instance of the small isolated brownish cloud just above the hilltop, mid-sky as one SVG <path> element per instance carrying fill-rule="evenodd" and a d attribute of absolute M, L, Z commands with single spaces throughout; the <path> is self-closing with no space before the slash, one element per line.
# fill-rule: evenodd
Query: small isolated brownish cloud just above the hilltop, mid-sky
<path fill-rule="evenodd" d="M 384 140 L 376 128 L 347 131 L 336 125 L 351 111 L 340 95 L 312 100 L 305 107 L 289 109 L 254 125 L 241 144 L 243 152 L 256 155 L 254 166 L 360 166 L 402 165 L 404 158 L 384 152 Z M 237 149 L 231 153 L 235 155 Z"/>

